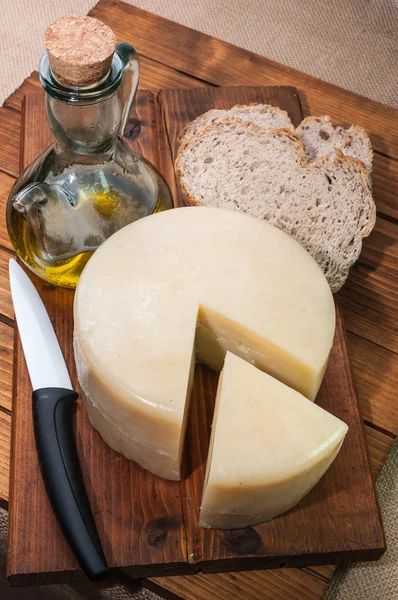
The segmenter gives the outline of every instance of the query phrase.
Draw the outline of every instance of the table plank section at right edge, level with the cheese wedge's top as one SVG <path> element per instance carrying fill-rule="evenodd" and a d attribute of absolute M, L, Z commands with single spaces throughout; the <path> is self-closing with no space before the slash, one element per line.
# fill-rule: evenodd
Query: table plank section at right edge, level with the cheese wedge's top
<path fill-rule="evenodd" d="M 362 417 L 398 435 L 398 356 L 353 333 L 347 337 Z"/>

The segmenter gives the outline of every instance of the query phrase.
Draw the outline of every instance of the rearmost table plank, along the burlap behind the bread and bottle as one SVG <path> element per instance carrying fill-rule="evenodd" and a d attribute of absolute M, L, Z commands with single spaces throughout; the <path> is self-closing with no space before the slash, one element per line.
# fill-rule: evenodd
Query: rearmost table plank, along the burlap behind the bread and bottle
<path fill-rule="evenodd" d="M 118 0 L 101 0 L 90 14 L 139 54 L 209 83 L 295 86 L 305 115 L 330 114 L 341 125 L 357 123 L 369 133 L 375 150 L 398 157 L 393 108 Z"/>

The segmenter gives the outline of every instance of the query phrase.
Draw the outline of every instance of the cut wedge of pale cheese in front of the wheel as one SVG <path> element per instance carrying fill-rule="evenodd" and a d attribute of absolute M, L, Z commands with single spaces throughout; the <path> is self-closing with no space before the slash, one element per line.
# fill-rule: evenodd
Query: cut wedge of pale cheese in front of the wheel
<path fill-rule="evenodd" d="M 228 352 L 217 389 L 200 526 L 248 527 L 293 508 L 333 462 L 347 429 Z"/>

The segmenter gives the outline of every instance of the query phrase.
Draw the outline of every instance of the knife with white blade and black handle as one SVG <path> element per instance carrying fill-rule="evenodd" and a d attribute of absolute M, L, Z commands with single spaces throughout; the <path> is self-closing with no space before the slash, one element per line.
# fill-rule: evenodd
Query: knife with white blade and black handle
<path fill-rule="evenodd" d="M 79 397 L 46 308 L 18 263 L 9 262 L 10 287 L 22 348 L 32 383 L 33 427 L 48 498 L 75 558 L 92 581 L 107 563 L 77 454 L 73 414 Z"/>

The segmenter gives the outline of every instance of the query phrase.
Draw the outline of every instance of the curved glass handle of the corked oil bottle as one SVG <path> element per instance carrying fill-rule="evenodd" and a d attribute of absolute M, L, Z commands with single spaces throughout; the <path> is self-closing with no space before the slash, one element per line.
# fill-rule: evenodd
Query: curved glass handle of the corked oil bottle
<path fill-rule="evenodd" d="M 116 44 L 116 52 L 123 63 L 123 81 L 121 87 L 123 112 L 119 128 L 119 137 L 123 137 L 137 93 L 138 80 L 140 78 L 140 62 L 137 52 L 127 42 Z"/>

